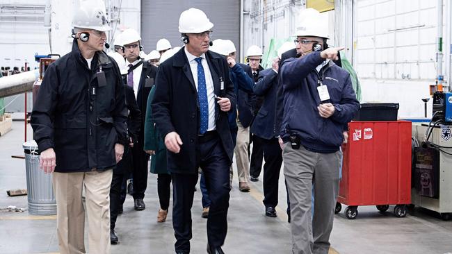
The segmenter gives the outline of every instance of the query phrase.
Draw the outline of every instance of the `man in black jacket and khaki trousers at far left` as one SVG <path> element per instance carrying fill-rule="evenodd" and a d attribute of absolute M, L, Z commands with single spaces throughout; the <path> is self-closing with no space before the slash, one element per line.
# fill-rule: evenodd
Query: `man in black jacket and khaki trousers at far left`
<path fill-rule="evenodd" d="M 101 7 L 102 6 L 102 7 Z M 112 169 L 127 144 L 120 71 L 102 49 L 110 27 L 105 7 L 84 1 L 72 22 L 72 51 L 49 66 L 31 114 L 40 167 L 52 173 L 60 253 L 110 253 Z"/>

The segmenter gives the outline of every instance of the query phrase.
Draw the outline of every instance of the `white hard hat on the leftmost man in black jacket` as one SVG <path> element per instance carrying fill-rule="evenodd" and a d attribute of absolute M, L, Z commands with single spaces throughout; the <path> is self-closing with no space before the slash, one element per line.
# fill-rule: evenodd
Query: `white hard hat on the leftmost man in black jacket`
<path fill-rule="evenodd" d="M 81 1 L 72 18 L 72 27 L 88 28 L 97 31 L 110 31 L 105 15 L 104 1 Z"/>

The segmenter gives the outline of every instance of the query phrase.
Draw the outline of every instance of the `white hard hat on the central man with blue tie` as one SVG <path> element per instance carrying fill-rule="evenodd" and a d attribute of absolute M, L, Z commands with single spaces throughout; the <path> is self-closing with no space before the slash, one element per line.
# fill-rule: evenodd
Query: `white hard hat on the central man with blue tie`
<path fill-rule="evenodd" d="M 184 10 L 179 17 L 180 33 L 202 33 L 213 28 L 213 24 L 206 14 L 199 9 Z"/>

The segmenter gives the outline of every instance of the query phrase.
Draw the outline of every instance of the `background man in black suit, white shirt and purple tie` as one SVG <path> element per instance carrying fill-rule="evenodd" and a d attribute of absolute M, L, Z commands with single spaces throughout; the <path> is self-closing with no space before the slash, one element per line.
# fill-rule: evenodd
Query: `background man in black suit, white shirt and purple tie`
<path fill-rule="evenodd" d="M 140 133 L 137 143 L 132 148 L 134 158 L 134 208 L 137 211 L 145 210 L 145 191 L 147 187 L 147 165 L 149 164 L 149 156 L 145 153 L 144 146 L 144 125 L 147 107 L 147 96 L 154 85 L 154 78 L 157 67 L 151 65 L 150 62 L 144 61 L 139 57 L 141 37 L 134 29 L 127 29 L 121 34 L 122 43 L 124 44 L 126 65 L 129 67 L 127 71 L 126 83 L 134 88 L 136 103 L 141 111 Z"/>

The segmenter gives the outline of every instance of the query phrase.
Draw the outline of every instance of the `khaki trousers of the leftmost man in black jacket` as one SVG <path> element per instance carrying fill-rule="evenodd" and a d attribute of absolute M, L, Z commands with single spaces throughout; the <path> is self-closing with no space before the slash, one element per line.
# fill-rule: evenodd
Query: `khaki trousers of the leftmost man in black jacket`
<path fill-rule="evenodd" d="M 110 185 L 113 170 L 74 173 L 53 173 L 56 198 L 56 231 L 61 254 L 86 253 L 85 208 L 82 190 L 85 187 L 88 214 L 89 253 L 110 251 Z"/>

